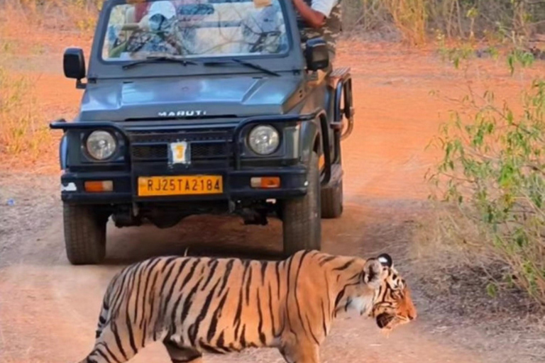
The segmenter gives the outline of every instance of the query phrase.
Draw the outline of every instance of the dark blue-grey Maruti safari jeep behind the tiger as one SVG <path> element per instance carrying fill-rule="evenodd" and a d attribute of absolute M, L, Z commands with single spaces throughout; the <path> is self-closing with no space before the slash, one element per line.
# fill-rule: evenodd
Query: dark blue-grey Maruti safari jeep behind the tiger
<path fill-rule="evenodd" d="M 292 1 L 107 0 L 83 89 L 60 141 L 65 244 L 98 264 L 106 222 L 169 228 L 187 216 L 282 220 L 286 254 L 320 249 L 343 211 L 341 140 L 352 129 L 349 69 L 319 38 L 302 44 Z M 324 76 L 323 76 L 324 75 Z"/>

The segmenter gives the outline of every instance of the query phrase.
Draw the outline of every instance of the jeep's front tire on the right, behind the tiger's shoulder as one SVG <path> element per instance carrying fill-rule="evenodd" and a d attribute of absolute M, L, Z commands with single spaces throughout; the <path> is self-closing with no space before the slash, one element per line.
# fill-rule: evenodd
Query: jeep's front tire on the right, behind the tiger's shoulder
<path fill-rule="evenodd" d="M 321 249 L 320 174 L 318 155 L 312 152 L 307 174 L 307 195 L 287 199 L 282 206 L 284 255 Z"/>

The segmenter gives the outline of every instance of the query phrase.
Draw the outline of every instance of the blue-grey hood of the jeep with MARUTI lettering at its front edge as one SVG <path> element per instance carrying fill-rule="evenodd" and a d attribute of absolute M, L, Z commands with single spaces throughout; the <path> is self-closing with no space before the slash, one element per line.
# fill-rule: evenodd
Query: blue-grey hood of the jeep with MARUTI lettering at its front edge
<path fill-rule="evenodd" d="M 297 77 L 225 77 L 99 81 L 85 90 L 80 120 L 257 116 L 294 106 Z"/>

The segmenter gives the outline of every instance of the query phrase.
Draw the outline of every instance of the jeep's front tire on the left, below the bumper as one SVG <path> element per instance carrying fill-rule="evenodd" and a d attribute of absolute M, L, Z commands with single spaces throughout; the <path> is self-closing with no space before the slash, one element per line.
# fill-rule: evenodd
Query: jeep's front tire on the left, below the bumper
<path fill-rule="evenodd" d="M 99 264 L 106 256 L 107 218 L 96 206 L 64 203 L 65 247 L 71 264 Z"/>

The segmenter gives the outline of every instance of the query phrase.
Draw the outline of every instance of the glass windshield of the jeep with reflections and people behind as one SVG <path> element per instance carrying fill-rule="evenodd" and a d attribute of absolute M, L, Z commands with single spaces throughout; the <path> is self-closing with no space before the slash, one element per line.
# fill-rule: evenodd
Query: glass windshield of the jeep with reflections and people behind
<path fill-rule="evenodd" d="M 110 9 L 102 48 L 106 62 L 280 55 L 288 50 L 278 0 L 131 2 L 135 4 Z"/>

